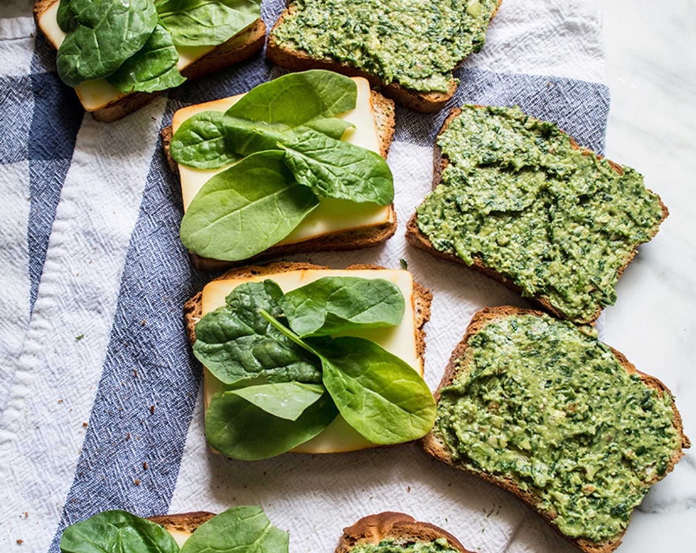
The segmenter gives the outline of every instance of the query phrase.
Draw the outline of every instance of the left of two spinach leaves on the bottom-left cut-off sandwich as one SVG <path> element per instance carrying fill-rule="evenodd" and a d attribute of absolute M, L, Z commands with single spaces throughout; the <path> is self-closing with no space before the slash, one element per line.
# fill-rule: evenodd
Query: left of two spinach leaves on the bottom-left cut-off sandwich
<path fill-rule="evenodd" d="M 72 524 L 61 537 L 63 553 L 178 553 L 163 527 L 126 511 L 104 511 Z"/>

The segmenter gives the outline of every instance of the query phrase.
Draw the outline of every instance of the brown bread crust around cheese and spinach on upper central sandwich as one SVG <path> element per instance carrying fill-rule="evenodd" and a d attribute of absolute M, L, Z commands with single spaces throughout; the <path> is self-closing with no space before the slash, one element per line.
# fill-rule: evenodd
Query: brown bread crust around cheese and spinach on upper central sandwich
<path fill-rule="evenodd" d="M 396 125 L 394 102 L 375 90 L 370 90 L 370 102 L 372 104 L 372 111 L 374 112 L 375 125 L 377 126 L 379 154 L 386 159 L 394 138 Z M 171 141 L 173 137 L 171 125 L 162 129 L 161 137 L 167 163 L 177 178 L 180 178 L 179 167 L 176 161 L 171 157 Z M 261 262 L 271 257 L 280 257 L 294 253 L 360 250 L 362 248 L 377 246 L 390 239 L 394 236 L 396 229 L 396 211 L 394 206 L 391 205 L 388 221 L 381 225 L 357 227 L 349 230 L 322 234 L 319 237 L 307 240 L 277 244 L 253 257 L 242 259 L 238 262 L 221 261 L 219 259 L 212 259 L 211 257 L 202 257 L 195 253 L 191 253 L 191 261 L 193 265 L 196 266 L 196 269 L 200 269 L 201 271 L 224 271 L 230 266 Z"/>

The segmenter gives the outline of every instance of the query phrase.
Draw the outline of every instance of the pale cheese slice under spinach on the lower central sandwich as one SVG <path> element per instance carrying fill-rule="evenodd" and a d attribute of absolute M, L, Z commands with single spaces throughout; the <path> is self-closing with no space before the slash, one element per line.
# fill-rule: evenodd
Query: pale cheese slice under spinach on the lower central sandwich
<path fill-rule="evenodd" d="M 361 269 L 346 271 L 340 269 L 304 269 L 287 271 L 276 275 L 262 275 L 251 278 L 213 280 L 203 288 L 201 298 L 203 314 L 225 305 L 225 298 L 230 291 L 244 282 L 261 282 L 266 279 L 274 280 L 284 291 L 290 291 L 309 284 L 324 276 L 358 276 L 363 278 L 383 278 L 399 287 L 406 300 L 406 311 L 402 323 L 390 328 L 373 328 L 370 330 L 354 330 L 346 335 L 364 337 L 377 342 L 390 353 L 397 355 L 422 376 L 422 360 L 418 356 L 416 344 L 416 310 L 413 300 L 413 278 L 411 273 L 402 270 Z M 212 396 L 221 390 L 222 383 L 207 369 L 204 371 L 205 407 L 207 408 Z M 331 425 L 312 440 L 301 444 L 293 451 L 300 453 L 338 453 L 375 447 L 372 442 L 363 438 L 339 415 Z"/>

